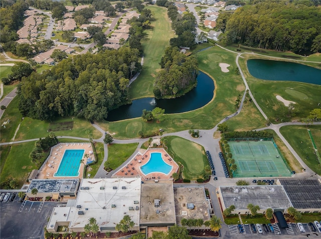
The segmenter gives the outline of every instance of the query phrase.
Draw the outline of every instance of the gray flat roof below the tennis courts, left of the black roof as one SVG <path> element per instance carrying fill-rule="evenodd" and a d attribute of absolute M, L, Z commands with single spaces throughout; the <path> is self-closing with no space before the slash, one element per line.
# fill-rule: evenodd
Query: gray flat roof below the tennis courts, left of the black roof
<path fill-rule="evenodd" d="M 220 186 L 225 207 L 247 209 L 252 203 L 261 209 L 286 209 L 292 206 L 281 185 Z"/>

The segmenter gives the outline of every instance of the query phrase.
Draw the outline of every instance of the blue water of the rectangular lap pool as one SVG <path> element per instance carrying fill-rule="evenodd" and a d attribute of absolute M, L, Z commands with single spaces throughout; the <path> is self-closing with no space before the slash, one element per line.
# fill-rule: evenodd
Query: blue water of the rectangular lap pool
<path fill-rule="evenodd" d="M 85 150 L 65 150 L 54 177 L 78 177 L 81 160 Z"/>

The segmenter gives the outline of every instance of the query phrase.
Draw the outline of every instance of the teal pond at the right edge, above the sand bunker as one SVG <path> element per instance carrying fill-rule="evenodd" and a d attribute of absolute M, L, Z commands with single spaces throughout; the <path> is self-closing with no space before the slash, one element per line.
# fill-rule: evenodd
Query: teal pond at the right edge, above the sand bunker
<path fill-rule="evenodd" d="M 321 70 L 293 62 L 251 59 L 247 68 L 262 80 L 285 80 L 321 85 Z"/>

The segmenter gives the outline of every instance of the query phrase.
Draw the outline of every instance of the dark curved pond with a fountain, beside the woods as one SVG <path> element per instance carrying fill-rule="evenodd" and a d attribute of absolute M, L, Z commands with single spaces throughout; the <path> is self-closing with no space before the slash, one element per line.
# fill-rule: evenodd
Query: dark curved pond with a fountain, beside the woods
<path fill-rule="evenodd" d="M 152 97 L 135 99 L 132 104 L 122 105 L 108 113 L 107 121 L 120 121 L 140 117 L 143 109 L 155 107 L 165 109 L 165 113 L 182 113 L 203 107 L 214 96 L 214 81 L 207 74 L 199 72 L 197 86 L 185 95 L 175 99 L 155 99 Z"/>

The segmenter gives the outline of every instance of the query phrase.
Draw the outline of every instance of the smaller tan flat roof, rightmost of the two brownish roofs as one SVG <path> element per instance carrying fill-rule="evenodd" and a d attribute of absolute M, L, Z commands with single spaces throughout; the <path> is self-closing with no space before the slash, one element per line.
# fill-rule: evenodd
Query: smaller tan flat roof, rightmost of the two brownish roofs
<path fill-rule="evenodd" d="M 198 219 L 204 221 L 210 219 L 210 203 L 206 199 L 204 187 L 174 188 L 176 223 L 181 225 L 181 220 Z M 194 209 L 188 209 L 187 204 L 193 203 Z"/>

